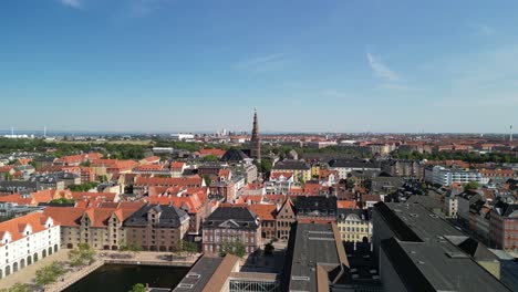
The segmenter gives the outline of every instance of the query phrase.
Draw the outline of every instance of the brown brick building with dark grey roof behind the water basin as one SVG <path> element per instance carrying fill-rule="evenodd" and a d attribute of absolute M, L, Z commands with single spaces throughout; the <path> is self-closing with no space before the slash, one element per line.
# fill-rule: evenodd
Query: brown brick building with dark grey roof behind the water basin
<path fill-rule="evenodd" d="M 146 205 L 124 221 L 126 241 L 149 251 L 176 251 L 189 216 L 175 206 Z"/>

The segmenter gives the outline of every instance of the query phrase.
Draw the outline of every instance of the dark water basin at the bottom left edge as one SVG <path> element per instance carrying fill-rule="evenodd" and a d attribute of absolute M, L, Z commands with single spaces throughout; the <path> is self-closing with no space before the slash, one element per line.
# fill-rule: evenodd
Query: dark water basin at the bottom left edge
<path fill-rule="evenodd" d="M 127 292 L 136 283 L 155 288 L 174 288 L 189 268 L 105 264 L 64 292 Z"/>

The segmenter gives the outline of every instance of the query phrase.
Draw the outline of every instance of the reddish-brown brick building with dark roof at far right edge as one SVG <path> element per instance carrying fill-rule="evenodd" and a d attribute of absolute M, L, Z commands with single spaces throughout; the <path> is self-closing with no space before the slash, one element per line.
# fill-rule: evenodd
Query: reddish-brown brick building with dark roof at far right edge
<path fill-rule="evenodd" d="M 498 249 L 518 249 L 518 205 L 495 205 L 489 218 L 489 239 Z"/>

